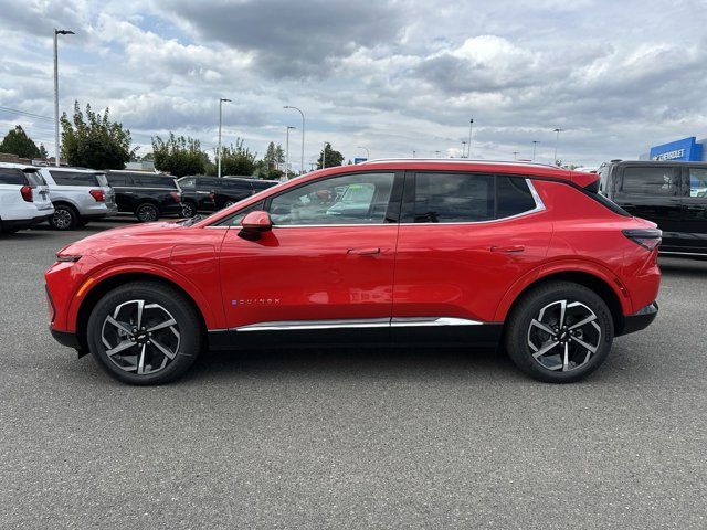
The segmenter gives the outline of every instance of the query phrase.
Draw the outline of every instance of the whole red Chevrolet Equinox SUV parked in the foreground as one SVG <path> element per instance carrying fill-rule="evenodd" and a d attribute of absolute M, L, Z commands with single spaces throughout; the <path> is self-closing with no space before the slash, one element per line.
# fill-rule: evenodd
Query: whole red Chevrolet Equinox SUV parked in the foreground
<path fill-rule="evenodd" d="M 205 219 L 115 229 L 46 272 L 51 330 L 117 379 L 173 380 L 209 349 L 505 346 L 571 382 L 650 325 L 661 231 L 540 165 L 381 160 Z"/>

